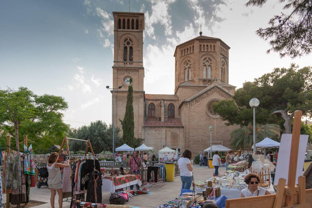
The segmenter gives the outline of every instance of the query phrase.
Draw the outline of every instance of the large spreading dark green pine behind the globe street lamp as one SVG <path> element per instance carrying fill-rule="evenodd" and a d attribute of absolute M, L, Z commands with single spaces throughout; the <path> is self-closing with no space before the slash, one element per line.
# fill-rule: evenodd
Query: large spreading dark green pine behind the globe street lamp
<path fill-rule="evenodd" d="M 214 104 L 213 109 L 227 125 L 247 126 L 252 123 L 253 113 L 249 106 L 251 98 L 258 98 L 256 108 L 258 124 L 279 123 L 285 120 L 285 133 L 291 133 L 291 119 L 295 110 L 302 110 L 303 115 L 312 114 L 312 71 L 311 67 L 298 70 L 292 64 L 290 68 L 275 68 L 237 89 L 232 100 L 222 100 Z"/>

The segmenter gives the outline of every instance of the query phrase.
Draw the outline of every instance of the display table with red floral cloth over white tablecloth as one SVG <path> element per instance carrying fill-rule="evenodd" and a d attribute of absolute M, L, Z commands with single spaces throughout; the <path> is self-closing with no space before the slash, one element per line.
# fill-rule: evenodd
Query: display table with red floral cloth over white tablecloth
<path fill-rule="evenodd" d="M 125 188 L 131 185 L 142 185 L 140 175 L 123 175 L 114 178 L 102 177 L 102 191 L 110 191 L 115 193 L 115 190 Z"/>

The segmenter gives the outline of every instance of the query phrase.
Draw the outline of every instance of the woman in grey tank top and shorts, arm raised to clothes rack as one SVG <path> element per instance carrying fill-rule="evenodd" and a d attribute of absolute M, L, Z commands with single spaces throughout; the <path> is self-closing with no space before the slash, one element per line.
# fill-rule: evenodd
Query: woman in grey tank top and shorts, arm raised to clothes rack
<path fill-rule="evenodd" d="M 48 177 L 48 185 L 51 191 L 51 207 L 54 208 L 54 198 L 55 193 L 57 190 L 57 193 L 59 195 L 59 207 L 62 208 L 63 205 L 63 191 L 62 191 L 62 184 L 61 184 L 61 171 L 59 167 L 69 167 L 69 161 L 67 161 L 67 164 L 62 164 L 59 162 L 56 162 L 58 160 L 58 153 L 53 152 L 48 158 L 48 163 L 46 163 L 46 168 L 49 172 Z"/>

